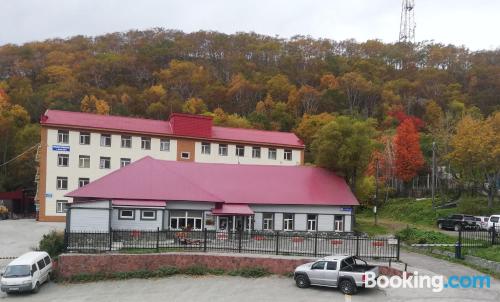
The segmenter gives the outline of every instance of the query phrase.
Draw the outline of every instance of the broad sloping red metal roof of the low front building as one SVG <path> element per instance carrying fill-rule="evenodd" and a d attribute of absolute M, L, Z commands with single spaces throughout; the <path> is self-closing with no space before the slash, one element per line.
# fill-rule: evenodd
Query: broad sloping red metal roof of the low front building
<path fill-rule="evenodd" d="M 205 164 L 149 156 L 66 196 L 234 204 L 358 205 L 343 178 L 317 167 Z"/>

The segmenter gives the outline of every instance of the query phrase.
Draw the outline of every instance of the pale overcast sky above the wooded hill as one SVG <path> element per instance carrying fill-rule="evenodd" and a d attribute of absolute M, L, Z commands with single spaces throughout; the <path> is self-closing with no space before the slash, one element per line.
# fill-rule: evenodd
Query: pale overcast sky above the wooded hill
<path fill-rule="evenodd" d="M 500 1 L 415 2 L 417 41 L 500 47 Z M 401 0 L 1 0 L 0 45 L 153 27 L 394 42 L 400 12 Z"/>

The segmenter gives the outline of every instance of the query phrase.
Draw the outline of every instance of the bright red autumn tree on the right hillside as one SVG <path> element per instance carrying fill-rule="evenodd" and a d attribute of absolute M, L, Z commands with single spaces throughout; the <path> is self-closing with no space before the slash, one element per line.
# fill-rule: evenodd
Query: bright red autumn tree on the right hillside
<path fill-rule="evenodd" d="M 404 182 L 412 180 L 424 165 L 419 138 L 417 128 L 411 119 L 404 120 L 396 129 L 395 172 L 396 177 Z"/>

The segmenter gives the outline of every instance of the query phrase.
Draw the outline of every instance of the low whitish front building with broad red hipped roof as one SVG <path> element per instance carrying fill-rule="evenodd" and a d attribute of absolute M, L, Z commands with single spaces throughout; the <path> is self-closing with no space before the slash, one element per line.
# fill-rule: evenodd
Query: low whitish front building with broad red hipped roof
<path fill-rule="evenodd" d="M 310 166 L 227 165 L 147 156 L 66 194 L 67 231 L 352 231 L 358 201 Z"/>

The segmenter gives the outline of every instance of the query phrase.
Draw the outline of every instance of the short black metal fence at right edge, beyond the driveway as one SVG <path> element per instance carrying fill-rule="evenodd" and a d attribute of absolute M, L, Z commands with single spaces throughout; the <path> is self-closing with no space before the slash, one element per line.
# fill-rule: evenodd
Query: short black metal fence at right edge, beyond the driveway
<path fill-rule="evenodd" d="M 455 245 L 455 258 L 462 258 L 473 249 L 493 245 L 500 245 L 500 225 L 493 224 L 493 227 L 487 229 L 460 229 Z"/>

